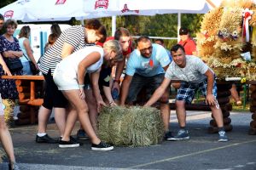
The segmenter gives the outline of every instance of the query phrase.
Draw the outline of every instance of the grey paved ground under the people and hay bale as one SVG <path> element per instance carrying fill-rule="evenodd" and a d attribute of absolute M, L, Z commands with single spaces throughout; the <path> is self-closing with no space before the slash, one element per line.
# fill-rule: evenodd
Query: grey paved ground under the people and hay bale
<path fill-rule="evenodd" d="M 177 119 L 172 112 L 171 128 L 177 131 Z M 150 147 L 115 147 L 108 152 L 90 150 L 90 142 L 74 149 L 60 149 L 57 144 L 36 144 L 37 126 L 10 129 L 16 159 L 20 169 L 195 169 L 195 170 L 255 170 L 256 136 L 248 135 L 251 113 L 232 112 L 234 129 L 230 141 L 219 143 L 218 134 L 208 134 L 209 112 L 189 111 L 188 127 L 191 139 L 168 142 Z M 76 126 L 76 129 L 79 126 Z M 73 131 L 76 132 L 76 129 Z M 55 124 L 49 124 L 49 134 L 57 138 Z M 7 161 L 5 158 L 3 161 Z M 7 163 L 0 164 L 7 169 Z"/>

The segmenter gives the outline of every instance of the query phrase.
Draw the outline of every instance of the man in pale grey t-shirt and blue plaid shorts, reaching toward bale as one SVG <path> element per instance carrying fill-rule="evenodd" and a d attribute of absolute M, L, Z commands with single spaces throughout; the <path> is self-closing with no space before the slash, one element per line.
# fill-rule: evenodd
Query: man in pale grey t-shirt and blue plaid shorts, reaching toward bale
<path fill-rule="evenodd" d="M 198 57 L 186 56 L 182 45 L 174 45 L 171 49 L 174 62 L 169 65 L 166 71 L 164 81 L 157 88 L 153 96 L 148 100 L 145 106 L 153 105 L 157 99 L 160 99 L 169 87 L 171 80 L 176 77 L 182 81 L 181 87 L 177 90 L 176 113 L 180 126 L 177 136 L 167 140 L 189 139 L 189 131 L 186 129 L 186 111 L 185 103 L 190 104 L 195 96 L 196 90 L 201 89 L 206 97 L 206 103 L 212 110 L 212 115 L 218 125 L 218 141 L 228 141 L 224 132 L 224 123 L 222 111 L 219 108 L 217 97 L 217 87 L 214 80 L 213 71 Z"/>

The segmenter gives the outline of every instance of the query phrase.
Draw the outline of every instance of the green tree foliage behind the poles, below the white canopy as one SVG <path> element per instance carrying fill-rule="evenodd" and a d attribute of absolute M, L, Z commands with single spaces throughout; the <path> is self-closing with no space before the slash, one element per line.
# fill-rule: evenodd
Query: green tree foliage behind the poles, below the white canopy
<path fill-rule="evenodd" d="M 200 31 L 203 14 L 182 14 L 182 26 L 188 27 L 191 36 Z M 111 36 L 111 17 L 100 19 L 107 27 L 108 36 Z M 117 27 L 127 28 L 132 36 L 148 37 L 177 37 L 177 14 L 156 14 L 154 16 L 127 15 L 118 16 Z M 164 40 L 166 48 L 171 48 L 177 40 Z"/>

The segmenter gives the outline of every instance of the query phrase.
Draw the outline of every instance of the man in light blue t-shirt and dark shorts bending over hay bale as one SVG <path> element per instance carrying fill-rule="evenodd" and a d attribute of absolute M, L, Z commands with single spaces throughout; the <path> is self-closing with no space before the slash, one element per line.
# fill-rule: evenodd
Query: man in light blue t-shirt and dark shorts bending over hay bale
<path fill-rule="evenodd" d="M 151 96 L 154 90 L 160 86 L 165 76 L 165 70 L 170 64 L 170 59 L 166 49 L 158 44 L 152 44 L 148 37 L 137 39 L 137 49 L 135 49 L 126 65 L 126 75 L 122 82 L 120 105 L 132 104 L 137 99 L 137 94 L 141 89 L 146 89 L 147 96 Z M 169 91 L 164 90 L 160 99 L 160 111 L 163 119 L 166 138 L 171 138 L 169 132 L 170 107 Z M 127 99 L 126 99 L 127 98 Z"/>

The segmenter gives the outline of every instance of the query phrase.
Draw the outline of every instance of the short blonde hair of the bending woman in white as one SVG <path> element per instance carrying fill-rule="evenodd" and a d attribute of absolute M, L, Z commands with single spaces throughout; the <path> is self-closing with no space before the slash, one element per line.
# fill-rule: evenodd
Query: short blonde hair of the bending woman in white
<path fill-rule="evenodd" d="M 109 40 L 108 42 L 105 42 L 103 48 L 108 52 L 114 51 L 116 53 L 116 56 L 114 57 L 115 60 L 123 59 L 123 50 L 117 40 Z"/>

